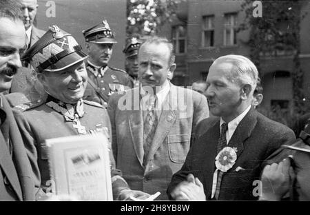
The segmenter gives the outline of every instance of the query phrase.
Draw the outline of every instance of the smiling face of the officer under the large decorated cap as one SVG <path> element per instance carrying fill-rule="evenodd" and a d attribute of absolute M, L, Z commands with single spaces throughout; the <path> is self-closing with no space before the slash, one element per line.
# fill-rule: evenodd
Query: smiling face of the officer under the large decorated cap
<path fill-rule="evenodd" d="M 38 79 L 51 96 L 65 103 L 76 103 L 87 85 L 85 63 L 79 62 L 59 72 L 43 72 Z"/>

